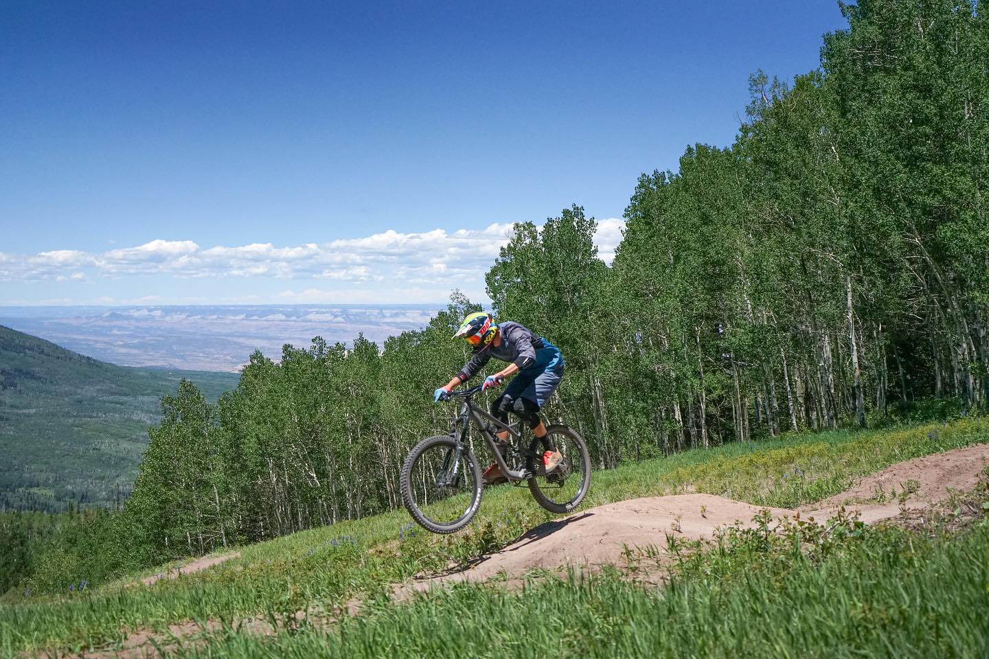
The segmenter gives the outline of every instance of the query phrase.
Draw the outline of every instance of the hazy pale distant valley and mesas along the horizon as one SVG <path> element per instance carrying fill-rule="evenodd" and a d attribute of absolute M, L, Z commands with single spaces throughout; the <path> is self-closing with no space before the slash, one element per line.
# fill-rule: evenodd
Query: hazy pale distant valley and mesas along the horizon
<path fill-rule="evenodd" d="M 237 371 L 260 349 L 315 336 L 350 343 L 363 333 L 382 343 L 425 325 L 441 305 L 0 306 L 0 325 L 84 355 L 132 367 Z"/>

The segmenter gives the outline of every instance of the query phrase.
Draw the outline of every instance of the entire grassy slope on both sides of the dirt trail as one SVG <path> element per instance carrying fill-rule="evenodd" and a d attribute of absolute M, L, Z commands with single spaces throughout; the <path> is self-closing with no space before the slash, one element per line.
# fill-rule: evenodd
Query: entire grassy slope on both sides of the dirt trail
<path fill-rule="evenodd" d="M 794 506 L 890 463 L 986 442 L 989 421 L 975 418 L 694 450 L 595 473 L 585 507 L 684 489 Z M 52 566 L 0 604 L 0 653 L 113 646 L 136 629 L 213 620 L 181 654 L 374 657 L 385 643 L 402 657 L 851 656 L 856 648 L 868 651 L 855 656 L 939 656 L 937 648 L 981 656 L 986 622 L 973 612 L 989 597 L 984 524 L 959 537 L 849 523 L 810 542 L 743 537 L 709 560 L 685 562 L 666 590 L 605 575 L 537 579 L 521 593 L 460 586 L 387 603 L 389 584 L 463 563 L 550 518 L 527 491 L 502 486 L 452 536 L 417 531 L 394 511 L 242 547 L 220 567 L 151 587 L 129 584 L 173 566 L 82 592 L 85 565 Z M 328 618 L 352 598 L 365 602 L 359 617 Z M 291 632 L 237 631 L 244 618 L 295 620 L 301 611 L 310 618 Z"/>

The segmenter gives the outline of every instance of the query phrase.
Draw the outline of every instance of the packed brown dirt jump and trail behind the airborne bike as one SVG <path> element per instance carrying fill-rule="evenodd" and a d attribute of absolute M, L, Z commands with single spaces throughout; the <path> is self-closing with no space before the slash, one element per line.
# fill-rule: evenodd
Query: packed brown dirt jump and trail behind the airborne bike
<path fill-rule="evenodd" d="M 752 527 L 753 517 L 761 510 L 768 510 L 774 519 L 799 513 L 803 519 L 813 517 L 824 523 L 844 504 L 847 511 L 858 511 L 862 522 L 872 524 L 896 517 L 903 509 L 944 501 L 952 491 L 974 488 L 987 465 L 989 445 L 918 457 L 866 476 L 846 492 L 799 511 L 765 509 L 711 494 L 621 501 L 547 522 L 466 569 L 421 579 L 397 595 L 439 584 L 487 581 L 502 573 L 513 581 L 538 569 L 621 565 L 626 547 L 640 552 L 655 548 L 662 553 L 668 535 L 700 539 L 710 537 L 718 527 L 736 523 Z"/>

